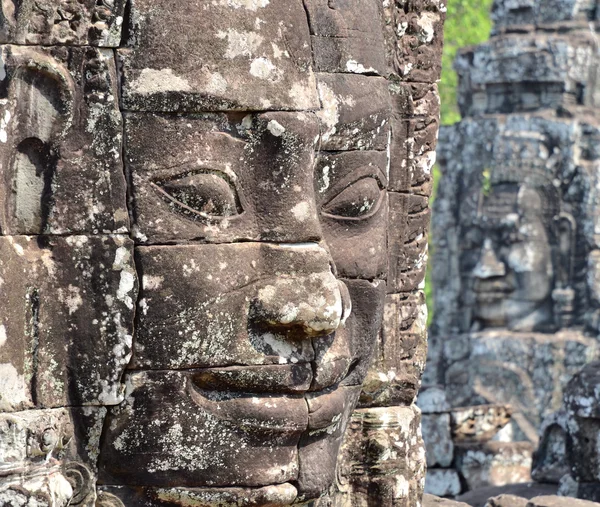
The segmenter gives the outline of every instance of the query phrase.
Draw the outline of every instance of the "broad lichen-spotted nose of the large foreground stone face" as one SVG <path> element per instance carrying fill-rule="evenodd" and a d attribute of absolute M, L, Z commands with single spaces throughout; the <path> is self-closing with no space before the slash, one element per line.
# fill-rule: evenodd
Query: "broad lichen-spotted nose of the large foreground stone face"
<path fill-rule="evenodd" d="M 331 272 L 277 279 L 259 290 L 253 306 L 257 324 L 310 337 L 333 333 L 352 311 L 348 288 Z"/>

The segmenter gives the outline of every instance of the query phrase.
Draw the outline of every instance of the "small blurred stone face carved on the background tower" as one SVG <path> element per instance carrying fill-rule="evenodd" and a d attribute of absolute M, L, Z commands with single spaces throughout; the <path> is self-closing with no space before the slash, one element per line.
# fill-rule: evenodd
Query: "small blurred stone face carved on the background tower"
<path fill-rule="evenodd" d="M 472 277 L 466 281 L 476 325 L 524 331 L 553 324 L 554 269 L 544 211 L 543 196 L 526 185 L 494 185 L 483 196 L 462 259 Z"/>

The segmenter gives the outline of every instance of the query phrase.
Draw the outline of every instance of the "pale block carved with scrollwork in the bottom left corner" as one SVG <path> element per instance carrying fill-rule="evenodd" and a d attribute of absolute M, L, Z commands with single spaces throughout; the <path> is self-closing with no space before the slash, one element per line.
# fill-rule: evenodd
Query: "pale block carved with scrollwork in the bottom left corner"
<path fill-rule="evenodd" d="M 105 414 L 96 407 L 0 414 L 0 504 L 93 505 Z"/>

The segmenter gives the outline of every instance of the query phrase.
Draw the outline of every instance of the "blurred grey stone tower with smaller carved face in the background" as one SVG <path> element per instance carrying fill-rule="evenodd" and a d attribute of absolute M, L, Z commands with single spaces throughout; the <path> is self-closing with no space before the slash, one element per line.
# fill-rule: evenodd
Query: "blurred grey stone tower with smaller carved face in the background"
<path fill-rule="evenodd" d="M 423 393 L 447 494 L 526 478 L 543 419 L 597 355 L 598 14 L 497 0 L 490 40 L 455 62 L 463 120 L 438 148 L 426 383 L 479 408 Z"/>

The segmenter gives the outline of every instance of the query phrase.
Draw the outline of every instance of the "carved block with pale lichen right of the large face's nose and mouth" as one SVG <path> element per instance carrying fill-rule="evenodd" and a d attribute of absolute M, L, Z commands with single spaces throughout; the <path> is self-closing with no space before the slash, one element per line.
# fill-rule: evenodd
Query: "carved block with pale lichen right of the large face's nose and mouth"
<path fill-rule="evenodd" d="M 360 406 L 411 405 L 420 387 L 426 355 L 424 294 L 388 294 Z"/>

